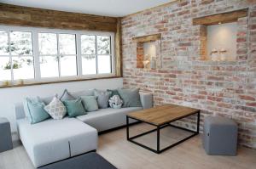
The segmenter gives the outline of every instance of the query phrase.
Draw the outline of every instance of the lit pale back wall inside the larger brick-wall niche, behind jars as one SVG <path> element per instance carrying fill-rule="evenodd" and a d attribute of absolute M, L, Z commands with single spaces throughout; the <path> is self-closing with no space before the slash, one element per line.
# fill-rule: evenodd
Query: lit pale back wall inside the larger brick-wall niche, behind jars
<path fill-rule="evenodd" d="M 207 56 L 211 59 L 213 48 L 227 50 L 227 60 L 236 60 L 236 33 L 237 24 L 228 23 L 207 26 Z"/>

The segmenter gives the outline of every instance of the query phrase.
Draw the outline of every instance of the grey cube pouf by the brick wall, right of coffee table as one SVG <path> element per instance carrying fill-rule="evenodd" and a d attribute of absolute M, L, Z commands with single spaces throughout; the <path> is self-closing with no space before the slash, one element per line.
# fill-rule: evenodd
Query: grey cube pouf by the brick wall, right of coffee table
<path fill-rule="evenodd" d="M 229 118 L 207 116 L 203 146 L 208 155 L 236 155 L 237 124 Z"/>

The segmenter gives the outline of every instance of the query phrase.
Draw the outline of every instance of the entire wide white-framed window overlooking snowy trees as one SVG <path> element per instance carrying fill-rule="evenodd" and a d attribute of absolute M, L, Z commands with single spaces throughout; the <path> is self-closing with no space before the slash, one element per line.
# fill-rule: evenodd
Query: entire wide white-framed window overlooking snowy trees
<path fill-rule="evenodd" d="M 113 33 L 0 25 L 0 82 L 113 76 Z"/>

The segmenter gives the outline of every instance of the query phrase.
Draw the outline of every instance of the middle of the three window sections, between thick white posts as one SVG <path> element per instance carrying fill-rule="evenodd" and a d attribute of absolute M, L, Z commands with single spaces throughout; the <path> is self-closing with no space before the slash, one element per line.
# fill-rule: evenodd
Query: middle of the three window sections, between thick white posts
<path fill-rule="evenodd" d="M 39 33 L 41 77 L 77 76 L 76 36 Z"/>

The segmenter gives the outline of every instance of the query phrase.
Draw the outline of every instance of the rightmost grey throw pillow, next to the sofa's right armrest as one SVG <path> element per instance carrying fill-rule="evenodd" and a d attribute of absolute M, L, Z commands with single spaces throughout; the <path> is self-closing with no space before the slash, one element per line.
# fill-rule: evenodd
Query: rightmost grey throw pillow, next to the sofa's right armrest
<path fill-rule="evenodd" d="M 135 89 L 118 89 L 121 99 L 123 99 L 123 107 L 142 107 L 139 88 Z"/>

